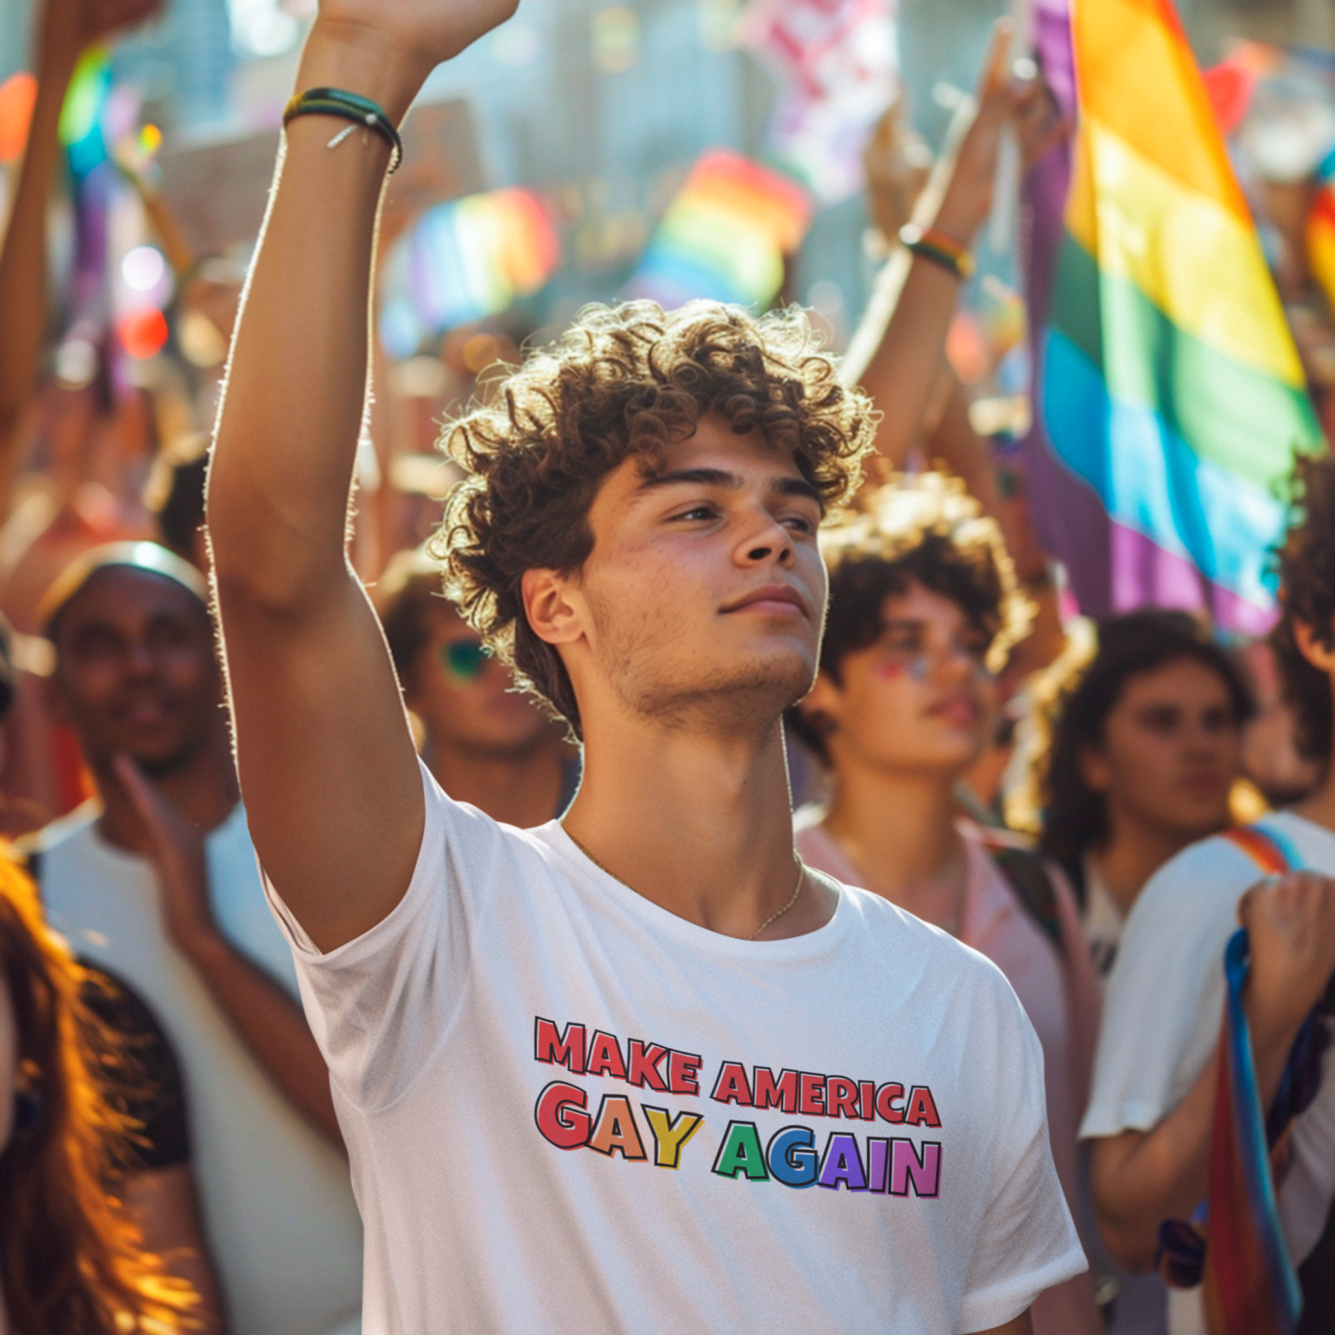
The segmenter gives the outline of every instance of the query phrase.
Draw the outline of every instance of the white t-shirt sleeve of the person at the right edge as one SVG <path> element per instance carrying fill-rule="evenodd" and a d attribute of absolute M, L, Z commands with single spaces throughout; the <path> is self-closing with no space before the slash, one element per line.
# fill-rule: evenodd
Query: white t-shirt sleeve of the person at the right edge
<path fill-rule="evenodd" d="M 1224 1005 L 1224 947 L 1260 872 L 1224 840 L 1192 845 L 1151 877 L 1108 979 L 1081 1139 L 1149 1131 L 1210 1060 Z"/>

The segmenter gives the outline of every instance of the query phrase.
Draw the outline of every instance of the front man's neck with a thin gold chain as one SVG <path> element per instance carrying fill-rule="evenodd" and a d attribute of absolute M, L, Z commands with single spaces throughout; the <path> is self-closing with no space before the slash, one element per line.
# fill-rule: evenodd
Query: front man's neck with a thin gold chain
<path fill-rule="evenodd" d="M 796 884 L 784 734 L 618 717 L 589 728 L 579 796 L 565 821 L 611 876 L 678 917 L 750 936 Z M 834 896 L 808 877 L 768 937 L 822 926 Z"/>

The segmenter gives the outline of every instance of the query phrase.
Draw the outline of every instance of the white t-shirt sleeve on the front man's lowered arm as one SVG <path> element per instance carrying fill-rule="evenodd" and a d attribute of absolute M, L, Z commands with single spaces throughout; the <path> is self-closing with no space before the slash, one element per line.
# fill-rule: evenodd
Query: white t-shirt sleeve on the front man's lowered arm
<path fill-rule="evenodd" d="M 985 1331 L 1013 1320 L 1047 1288 L 1088 1268 L 1048 1140 L 1043 1048 L 1009 984 L 971 1027 L 988 1056 L 977 1063 L 989 1089 L 992 1145 L 957 1330 Z M 989 1032 L 991 1031 L 991 1032 Z M 985 1075 L 983 1068 L 987 1068 Z"/>

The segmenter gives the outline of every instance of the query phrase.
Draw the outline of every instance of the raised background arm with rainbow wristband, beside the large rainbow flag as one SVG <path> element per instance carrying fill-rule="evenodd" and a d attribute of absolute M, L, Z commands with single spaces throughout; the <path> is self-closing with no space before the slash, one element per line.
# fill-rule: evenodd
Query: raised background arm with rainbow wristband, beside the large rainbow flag
<path fill-rule="evenodd" d="M 961 107 L 947 151 L 913 211 L 913 222 L 965 248 L 992 210 L 1003 135 L 1013 125 L 1021 163 L 1061 132 L 1047 89 L 1009 68 L 1011 24 L 997 24 L 975 103 Z M 892 244 L 896 238 L 888 236 Z M 945 358 L 960 282 L 940 264 L 896 247 L 877 276 L 844 358 L 844 380 L 860 384 L 881 411 L 877 450 L 901 469 L 922 426 Z M 980 497 L 980 499 L 983 499 Z"/>

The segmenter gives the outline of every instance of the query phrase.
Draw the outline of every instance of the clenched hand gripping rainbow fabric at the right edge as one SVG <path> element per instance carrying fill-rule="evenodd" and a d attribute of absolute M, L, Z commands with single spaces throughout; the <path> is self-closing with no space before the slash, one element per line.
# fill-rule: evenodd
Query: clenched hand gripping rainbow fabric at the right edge
<path fill-rule="evenodd" d="M 1335 973 L 1335 880 L 1291 872 L 1254 885 L 1238 905 L 1251 944 L 1254 1024 L 1296 1031 Z"/>

